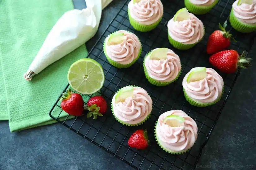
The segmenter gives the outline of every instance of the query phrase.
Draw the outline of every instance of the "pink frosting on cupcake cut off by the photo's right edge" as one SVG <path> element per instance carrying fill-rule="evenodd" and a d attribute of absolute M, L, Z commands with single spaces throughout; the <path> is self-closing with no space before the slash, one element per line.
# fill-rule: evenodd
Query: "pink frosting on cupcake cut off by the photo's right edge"
<path fill-rule="evenodd" d="M 233 12 L 236 18 L 238 18 L 243 23 L 254 24 L 256 23 L 256 2 L 253 4 L 245 4 L 237 5 L 237 1 L 235 1 L 232 5 Z"/>

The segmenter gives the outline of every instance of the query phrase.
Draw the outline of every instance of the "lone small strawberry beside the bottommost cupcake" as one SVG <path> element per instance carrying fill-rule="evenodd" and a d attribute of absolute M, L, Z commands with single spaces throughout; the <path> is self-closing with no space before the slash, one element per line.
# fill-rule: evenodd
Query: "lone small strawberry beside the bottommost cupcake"
<path fill-rule="evenodd" d="M 128 145 L 136 149 L 146 149 L 148 147 L 147 130 L 136 130 L 128 140 Z"/>

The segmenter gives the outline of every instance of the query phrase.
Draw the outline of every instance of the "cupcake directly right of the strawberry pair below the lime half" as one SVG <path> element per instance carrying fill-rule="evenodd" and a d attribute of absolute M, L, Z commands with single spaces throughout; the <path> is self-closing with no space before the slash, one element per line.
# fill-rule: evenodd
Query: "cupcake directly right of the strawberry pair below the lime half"
<path fill-rule="evenodd" d="M 136 126 L 144 123 L 152 110 L 152 99 L 141 87 L 126 86 L 113 96 L 111 108 L 122 124 Z"/>

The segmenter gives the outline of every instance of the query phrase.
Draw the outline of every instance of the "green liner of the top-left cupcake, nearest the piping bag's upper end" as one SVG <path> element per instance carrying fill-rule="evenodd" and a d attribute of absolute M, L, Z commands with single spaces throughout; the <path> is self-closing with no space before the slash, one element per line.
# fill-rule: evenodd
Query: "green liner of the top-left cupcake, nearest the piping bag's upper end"
<path fill-rule="evenodd" d="M 148 32 L 151 31 L 152 29 L 156 28 L 159 22 L 162 20 L 162 17 L 156 21 L 155 23 L 152 23 L 151 25 L 143 25 L 141 23 L 138 23 L 135 19 L 133 19 L 130 15 L 130 11 L 128 9 L 128 16 L 129 16 L 129 21 L 132 27 L 140 32 Z"/>

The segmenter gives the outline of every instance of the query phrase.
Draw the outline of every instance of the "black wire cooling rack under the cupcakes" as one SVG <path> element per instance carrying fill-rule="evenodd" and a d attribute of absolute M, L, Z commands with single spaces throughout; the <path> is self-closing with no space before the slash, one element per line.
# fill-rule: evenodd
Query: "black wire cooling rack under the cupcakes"
<path fill-rule="evenodd" d="M 206 15 L 200 15 L 198 18 L 203 21 L 205 27 L 204 39 L 194 48 L 187 51 L 174 49 L 168 42 L 167 23 L 176 11 L 184 7 L 182 0 L 162 0 L 164 5 L 164 16 L 158 27 L 151 32 L 137 32 L 132 28 L 128 20 L 127 8 L 129 0 L 120 0 L 124 4 L 115 18 L 110 22 L 96 44 L 92 47 L 88 57 L 99 62 L 105 73 L 105 83 L 99 92 L 108 103 L 108 111 L 104 117 L 98 117 L 97 120 L 86 118 L 86 116 L 60 118 L 62 112 L 60 101 L 56 101 L 50 111 L 50 116 L 60 122 L 70 130 L 91 141 L 98 147 L 121 159 L 135 169 L 194 169 L 214 126 L 222 112 L 222 109 L 231 93 L 232 87 L 236 82 L 239 71 L 235 74 L 219 73 L 224 79 L 225 92 L 222 99 L 215 105 L 205 108 L 197 108 L 186 102 L 183 90 L 182 79 L 193 67 L 211 67 L 208 62 L 209 55 L 206 54 L 206 42 L 209 35 L 218 29 L 218 23 L 224 23 L 229 16 L 231 6 L 234 0 L 219 0 L 218 4 Z M 255 33 L 242 34 L 231 29 L 237 42 L 232 42 L 230 49 L 235 49 L 239 53 L 244 50 L 250 51 L 253 44 Z M 128 30 L 135 33 L 141 43 L 142 54 L 138 61 L 127 69 L 117 69 L 111 66 L 103 53 L 103 43 L 105 38 L 117 30 Z M 182 74 L 177 81 L 166 87 L 156 87 L 146 80 L 143 71 L 143 57 L 152 49 L 166 47 L 177 53 L 182 62 Z M 115 92 L 127 85 L 136 85 L 144 88 L 153 100 L 153 109 L 150 118 L 140 126 L 129 127 L 116 121 L 111 113 L 110 103 Z M 66 91 L 67 87 L 64 89 Z M 93 94 L 97 95 L 97 94 Z M 92 96 L 92 95 L 91 95 Z M 85 102 L 91 97 L 83 95 Z M 163 151 L 156 143 L 154 138 L 154 126 L 160 114 L 168 111 L 181 109 L 192 117 L 198 125 L 198 138 L 191 150 L 182 155 L 172 155 Z M 57 114 L 56 114 L 57 113 Z M 150 147 L 146 150 L 136 150 L 130 148 L 127 144 L 130 135 L 137 129 L 144 128 L 148 130 Z"/>

